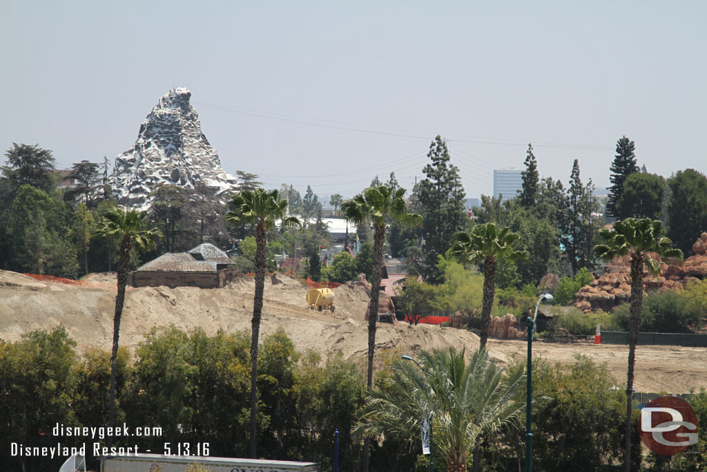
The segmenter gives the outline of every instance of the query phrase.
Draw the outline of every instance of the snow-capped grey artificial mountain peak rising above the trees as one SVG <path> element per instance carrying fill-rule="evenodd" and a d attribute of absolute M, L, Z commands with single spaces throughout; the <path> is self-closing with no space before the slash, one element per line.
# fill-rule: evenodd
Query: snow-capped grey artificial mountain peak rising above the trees
<path fill-rule="evenodd" d="M 160 98 L 135 144 L 115 159 L 110 185 L 120 205 L 146 209 L 160 183 L 193 189 L 202 181 L 215 195 L 236 185 L 201 132 L 191 96 L 186 88 L 173 88 Z"/>

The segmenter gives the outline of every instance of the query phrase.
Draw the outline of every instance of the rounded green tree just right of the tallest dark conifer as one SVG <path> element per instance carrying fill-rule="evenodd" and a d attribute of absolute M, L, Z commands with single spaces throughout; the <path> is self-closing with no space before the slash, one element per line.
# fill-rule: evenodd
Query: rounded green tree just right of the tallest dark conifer
<path fill-rule="evenodd" d="M 624 181 L 619 207 L 631 218 L 660 219 L 665 187 L 662 175 L 634 172 Z"/>

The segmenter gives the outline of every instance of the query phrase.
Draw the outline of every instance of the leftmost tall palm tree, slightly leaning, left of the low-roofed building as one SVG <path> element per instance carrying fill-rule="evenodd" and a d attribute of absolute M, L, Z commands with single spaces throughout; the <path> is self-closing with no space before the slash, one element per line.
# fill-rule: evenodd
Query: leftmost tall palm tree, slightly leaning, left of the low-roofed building
<path fill-rule="evenodd" d="M 118 292 L 115 296 L 115 314 L 113 315 L 113 350 L 110 356 L 110 414 L 108 422 L 111 427 L 115 424 L 115 370 L 118 335 L 125 301 L 125 287 L 130 271 L 130 252 L 133 248 L 138 251 L 153 248 L 156 239 L 162 237 L 162 233 L 156 228 L 145 229 L 146 215 L 147 212 L 139 212 L 136 209 L 112 209 L 98 219 L 94 230 L 98 236 L 120 241 L 117 267 Z"/>

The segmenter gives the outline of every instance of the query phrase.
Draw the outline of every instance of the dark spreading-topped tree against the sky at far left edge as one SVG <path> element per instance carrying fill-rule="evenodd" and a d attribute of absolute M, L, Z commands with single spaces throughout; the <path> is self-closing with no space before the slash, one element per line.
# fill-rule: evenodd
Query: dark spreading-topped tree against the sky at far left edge
<path fill-rule="evenodd" d="M 39 144 L 12 143 L 12 148 L 5 152 L 7 166 L 2 166 L 2 173 L 13 186 L 23 184 L 51 192 L 56 187 L 54 183 L 54 157 L 49 149 L 40 148 Z"/>

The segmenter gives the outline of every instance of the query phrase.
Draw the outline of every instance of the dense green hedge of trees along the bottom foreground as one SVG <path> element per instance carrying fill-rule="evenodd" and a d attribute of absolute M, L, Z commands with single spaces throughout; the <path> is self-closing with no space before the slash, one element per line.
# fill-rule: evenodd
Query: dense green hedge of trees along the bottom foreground
<path fill-rule="evenodd" d="M 140 450 L 163 451 L 165 442 L 173 447 L 178 442 L 208 442 L 211 456 L 245 456 L 249 338 L 247 332 L 207 335 L 198 329 L 185 333 L 165 327 L 148 333 L 134 352 L 121 348 L 118 424 L 125 422 L 132 431 L 145 426 L 162 431 L 156 436 L 119 438 L 114 446 L 136 444 Z M 421 374 L 411 362 L 401 361 L 400 354 L 397 350 L 381 353 L 375 395 L 403 395 L 404 383 L 394 380 L 401 374 L 411 380 Z M 623 444 L 624 399 L 606 366 L 585 357 L 575 359 L 569 368 L 542 361 L 536 364 L 536 468 L 594 472 L 617 464 Z M 519 371 L 522 365 L 511 364 L 503 380 Z M 57 422 L 66 427 L 107 425 L 110 352 L 90 347 L 77 353 L 75 341 L 64 328 L 35 331 L 15 343 L 0 343 L 0 372 L 0 395 L 5 398 L 0 403 L 0 442 L 6 446 L 11 442 L 33 447 L 54 446 L 57 441 L 69 447 L 83 441 L 90 444 L 90 438 L 54 437 L 52 429 Z M 259 456 L 317 461 L 322 471 L 331 471 L 334 430 L 339 430 L 340 470 L 357 471 L 362 442 L 354 430 L 365 427 L 365 415 L 372 413 L 370 404 L 366 406 L 363 366 L 341 355 L 324 359 L 312 350 L 298 352 L 280 331 L 262 340 L 259 372 L 267 387 L 259 393 Z M 517 394 L 524 397 L 524 388 L 518 388 Z M 700 423 L 707 422 L 707 395 L 698 393 L 690 404 Z M 633 422 L 637 425 L 638 414 L 633 415 Z M 371 471 L 428 471 L 427 457 L 421 455 L 419 423 L 412 426 L 409 436 L 385 434 L 380 443 L 374 442 Z M 525 457 L 522 430 L 521 415 L 519 425 L 503 425 L 486 436 L 481 448 L 485 470 L 518 470 Z M 439 434 L 443 444 L 443 430 L 434 434 Z M 637 435 L 634 439 L 633 447 L 638 448 Z M 653 453 L 636 454 L 634 461 L 643 471 L 699 471 L 705 448 L 701 441 L 690 449 L 694 454 L 670 460 Z M 436 454 L 435 470 L 447 470 L 442 451 Z M 57 470 L 63 460 L 13 457 L 9 446 L 0 450 L 5 471 Z"/>

